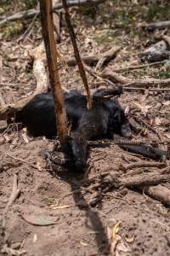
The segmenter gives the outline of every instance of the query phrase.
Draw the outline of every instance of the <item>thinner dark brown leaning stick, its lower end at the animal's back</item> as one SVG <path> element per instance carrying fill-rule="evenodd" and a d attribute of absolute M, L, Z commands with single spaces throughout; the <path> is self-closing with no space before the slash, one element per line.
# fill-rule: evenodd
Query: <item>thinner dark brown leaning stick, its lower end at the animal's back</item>
<path fill-rule="evenodd" d="M 76 35 L 75 35 L 74 29 L 71 25 L 71 18 L 70 18 L 70 14 L 69 14 L 69 10 L 68 10 L 68 5 L 67 5 L 65 0 L 62 0 L 62 3 L 63 3 L 63 7 L 65 9 L 65 21 L 66 21 L 68 31 L 70 33 L 70 37 L 71 37 L 71 41 L 72 41 L 72 45 L 73 45 L 73 49 L 74 49 L 74 53 L 75 53 L 75 58 L 77 60 L 77 65 L 78 65 L 79 72 L 80 72 L 80 75 L 81 75 L 81 78 L 82 78 L 82 82 L 83 82 L 84 87 L 87 91 L 88 109 L 90 109 L 90 108 L 92 108 L 92 96 L 91 96 L 90 90 L 88 88 L 88 79 L 87 79 L 84 67 L 82 65 L 82 60 L 81 60 L 81 57 L 79 55 L 79 51 L 78 51 L 78 48 L 77 48 Z"/>

